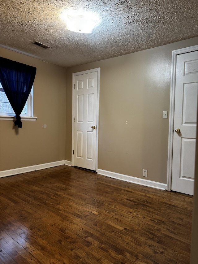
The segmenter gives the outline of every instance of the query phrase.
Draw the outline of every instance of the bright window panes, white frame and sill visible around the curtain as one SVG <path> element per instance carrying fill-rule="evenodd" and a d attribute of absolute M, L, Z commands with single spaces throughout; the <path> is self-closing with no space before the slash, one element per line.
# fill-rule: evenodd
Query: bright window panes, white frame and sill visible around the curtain
<path fill-rule="evenodd" d="M 5 119 L 1 117 L 7 117 L 6 119 L 12 119 L 14 116 L 15 112 L 13 111 L 11 104 L 8 101 L 7 96 L 3 90 L 2 84 L 0 82 L 0 119 Z M 31 118 L 31 120 L 37 119 L 33 118 L 33 85 L 28 100 L 20 116 L 21 119 L 24 120 L 26 118 Z"/>

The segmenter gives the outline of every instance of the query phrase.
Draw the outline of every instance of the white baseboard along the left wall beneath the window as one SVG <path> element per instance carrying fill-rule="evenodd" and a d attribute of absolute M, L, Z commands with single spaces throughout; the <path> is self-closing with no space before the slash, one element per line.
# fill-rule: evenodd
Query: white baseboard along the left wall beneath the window
<path fill-rule="evenodd" d="M 30 171 L 38 171 L 38 170 L 56 167 L 60 165 L 65 165 L 65 160 L 49 162 L 49 163 L 44 163 L 44 164 L 39 164 L 39 165 L 33 165 L 33 166 L 28 166 L 28 167 L 22 167 L 22 168 L 7 170 L 7 171 L 0 171 L 0 178 L 15 175 L 15 174 L 26 173 Z"/>

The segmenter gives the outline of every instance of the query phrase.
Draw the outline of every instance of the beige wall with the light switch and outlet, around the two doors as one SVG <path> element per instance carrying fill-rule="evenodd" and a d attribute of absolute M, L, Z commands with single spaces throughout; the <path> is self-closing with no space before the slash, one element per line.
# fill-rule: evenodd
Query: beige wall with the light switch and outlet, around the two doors
<path fill-rule="evenodd" d="M 98 168 L 166 183 L 172 50 L 198 38 L 67 68 L 66 160 L 71 161 L 72 73 L 101 67 Z M 128 121 L 128 125 L 126 125 Z"/>

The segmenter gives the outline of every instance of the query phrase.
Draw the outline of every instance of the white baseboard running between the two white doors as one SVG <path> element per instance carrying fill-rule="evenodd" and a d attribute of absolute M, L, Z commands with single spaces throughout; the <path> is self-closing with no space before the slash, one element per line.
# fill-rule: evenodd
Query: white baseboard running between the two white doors
<path fill-rule="evenodd" d="M 140 184 L 140 185 L 144 185 L 144 186 L 148 186 L 148 187 L 166 190 L 166 184 L 164 184 L 164 183 L 155 182 L 152 180 L 140 179 L 140 178 L 136 178 L 136 177 L 132 177 L 132 176 L 124 175 L 124 174 L 119 174 L 119 173 L 111 172 L 111 171 L 104 171 L 104 170 L 100 170 L 100 169 L 98 169 L 97 172 L 100 175 L 104 175 L 104 176 L 111 177 L 114 179 L 124 180 L 124 181 L 128 181 L 131 183 L 136 183 L 136 184 Z"/>

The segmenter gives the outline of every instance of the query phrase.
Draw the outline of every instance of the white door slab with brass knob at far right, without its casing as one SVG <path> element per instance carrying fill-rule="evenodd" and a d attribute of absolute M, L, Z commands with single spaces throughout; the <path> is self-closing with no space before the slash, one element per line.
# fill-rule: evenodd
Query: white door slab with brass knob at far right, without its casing
<path fill-rule="evenodd" d="M 171 188 L 191 195 L 194 188 L 197 97 L 198 51 L 177 55 Z"/>

